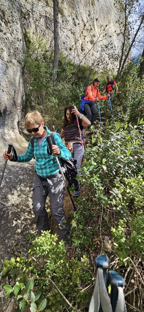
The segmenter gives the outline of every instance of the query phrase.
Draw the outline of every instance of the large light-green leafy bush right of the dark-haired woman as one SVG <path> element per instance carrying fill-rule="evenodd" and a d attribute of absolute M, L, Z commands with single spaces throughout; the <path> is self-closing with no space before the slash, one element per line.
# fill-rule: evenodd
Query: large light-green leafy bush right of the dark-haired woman
<path fill-rule="evenodd" d="M 95 249 L 100 227 L 109 231 L 118 218 L 123 220 L 126 215 L 130 218 L 137 209 L 142 209 L 142 128 L 142 120 L 134 127 L 126 124 L 124 129 L 116 123 L 114 131 L 107 131 L 108 139 L 92 137 L 93 146 L 87 148 L 81 176 L 86 193 L 81 197 L 81 208 L 72 221 L 72 239 L 76 247 Z M 105 219 L 102 223 L 101 211 Z M 121 251 L 124 253 L 124 248 Z"/>

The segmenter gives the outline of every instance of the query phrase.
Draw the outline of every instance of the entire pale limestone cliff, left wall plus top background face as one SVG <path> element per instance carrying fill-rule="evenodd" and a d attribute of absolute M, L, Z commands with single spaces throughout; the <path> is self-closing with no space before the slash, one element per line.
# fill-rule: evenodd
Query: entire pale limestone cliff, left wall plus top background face
<path fill-rule="evenodd" d="M 118 12 L 108 0 L 62 0 L 59 3 L 60 48 L 63 52 L 83 62 L 95 64 L 102 47 L 101 27 L 107 24 L 112 41 L 117 41 L 115 29 Z M 19 124 L 24 103 L 23 64 L 25 57 L 24 29 L 31 36 L 44 34 L 47 45 L 53 48 L 52 1 L 1 0 L 0 2 L 0 151 L 8 143 L 17 151 L 26 148 L 26 140 L 19 134 Z M 98 43 L 94 45 L 98 39 Z M 78 54 L 75 52 L 77 44 Z M 118 42 L 117 42 L 118 44 Z M 93 46 L 94 45 L 94 46 Z M 93 48 L 92 48 L 93 46 Z M 92 48 L 92 49 L 91 49 Z M 107 55 L 105 55 L 107 58 Z M 95 64 L 96 66 L 96 64 Z"/>

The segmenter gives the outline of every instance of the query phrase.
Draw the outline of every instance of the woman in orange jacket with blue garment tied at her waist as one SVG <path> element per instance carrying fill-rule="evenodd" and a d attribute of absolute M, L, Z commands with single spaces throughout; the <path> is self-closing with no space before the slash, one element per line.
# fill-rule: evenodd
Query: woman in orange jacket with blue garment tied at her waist
<path fill-rule="evenodd" d="M 82 95 L 81 98 L 81 113 L 85 114 L 87 118 L 91 121 L 91 125 L 95 124 L 95 121 L 97 119 L 98 110 L 95 107 L 95 102 L 100 100 L 107 100 L 109 97 L 109 93 L 106 96 L 101 96 L 100 91 L 98 89 L 100 85 L 100 79 L 96 78 L 92 85 L 89 85 L 86 88 L 85 95 Z M 88 127 L 88 129 L 91 126 Z"/>

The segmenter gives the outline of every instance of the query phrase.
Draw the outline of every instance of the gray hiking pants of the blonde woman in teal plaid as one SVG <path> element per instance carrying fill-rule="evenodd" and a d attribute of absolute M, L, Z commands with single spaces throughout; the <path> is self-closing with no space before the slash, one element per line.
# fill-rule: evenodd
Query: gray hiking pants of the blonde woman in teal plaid
<path fill-rule="evenodd" d="M 63 197 L 65 185 L 61 174 L 56 173 L 48 179 L 40 179 L 36 175 L 33 187 L 33 210 L 36 216 L 36 225 L 39 234 L 41 230 L 48 231 L 49 219 L 45 209 L 47 196 L 50 198 L 50 206 L 55 224 L 57 226 L 58 235 L 64 241 L 69 235 L 65 213 L 63 210 Z"/>

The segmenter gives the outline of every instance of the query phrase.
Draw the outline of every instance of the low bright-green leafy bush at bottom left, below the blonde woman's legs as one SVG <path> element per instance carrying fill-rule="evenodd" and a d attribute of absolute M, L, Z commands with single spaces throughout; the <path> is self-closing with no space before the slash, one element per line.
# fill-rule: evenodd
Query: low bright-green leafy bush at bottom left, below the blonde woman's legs
<path fill-rule="evenodd" d="M 47 312 L 66 311 L 69 306 L 58 288 L 75 308 L 88 304 L 90 293 L 83 288 L 88 282 L 91 285 L 91 267 L 86 256 L 82 261 L 77 258 L 68 261 L 64 242 L 58 243 L 56 234 L 51 235 L 50 231 L 34 238 L 28 257 L 5 260 L 1 269 L 2 276 L 10 282 L 4 286 L 6 296 L 17 297 L 16 311 L 22 312 L 26 305 L 31 312 L 41 311 L 46 304 Z"/>

